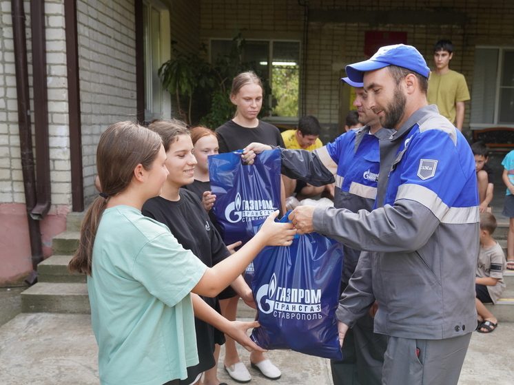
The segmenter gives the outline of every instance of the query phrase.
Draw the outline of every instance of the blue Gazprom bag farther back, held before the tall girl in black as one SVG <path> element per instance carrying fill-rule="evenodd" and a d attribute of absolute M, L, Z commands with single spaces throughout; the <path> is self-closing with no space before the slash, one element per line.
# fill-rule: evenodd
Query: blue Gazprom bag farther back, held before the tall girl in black
<path fill-rule="evenodd" d="M 209 156 L 212 208 L 225 244 L 245 244 L 280 207 L 280 149 L 258 154 L 254 165 L 242 162 L 242 150 Z"/>

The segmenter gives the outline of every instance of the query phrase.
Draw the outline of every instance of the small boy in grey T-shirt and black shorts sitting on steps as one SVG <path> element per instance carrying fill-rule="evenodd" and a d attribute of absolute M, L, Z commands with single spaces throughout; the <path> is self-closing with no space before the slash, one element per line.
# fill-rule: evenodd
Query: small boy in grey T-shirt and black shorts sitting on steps
<path fill-rule="evenodd" d="M 505 289 L 503 272 L 506 262 L 502 247 L 493 238 L 496 226 L 496 218 L 493 214 L 480 214 L 480 253 L 477 262 L 477 278 L 475 278 L 477 332 L 479 333 L 491 333 L 498 326 L 498 320 L 484 304 L 495 304 Z"/>

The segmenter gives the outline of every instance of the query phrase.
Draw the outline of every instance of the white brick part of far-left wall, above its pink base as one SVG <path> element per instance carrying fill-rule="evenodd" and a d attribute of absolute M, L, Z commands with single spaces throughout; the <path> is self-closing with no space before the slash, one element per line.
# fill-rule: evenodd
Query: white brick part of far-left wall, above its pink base
<path fill-rule="evenodd" d="M 19 125 L 12 40 L 11 2 L 1 1 L 2 34 L 0 37 L 0 203 L 24 203 Z M 29 84 L 32 87 L 30 3 L 25 1 L 25 31 L 28 50 Z M 66 81 L 63 1 L 45 1 L 45 33 L 47 39 L 48 129 L 50 143 L 50 179 L 52 208 L 70 205 L 70 151 L 68 138 L 68 92 Z M 34 114 L 30 91 L 32 132 Z M 35 151 L 34 151 L 35 156 Z"/>

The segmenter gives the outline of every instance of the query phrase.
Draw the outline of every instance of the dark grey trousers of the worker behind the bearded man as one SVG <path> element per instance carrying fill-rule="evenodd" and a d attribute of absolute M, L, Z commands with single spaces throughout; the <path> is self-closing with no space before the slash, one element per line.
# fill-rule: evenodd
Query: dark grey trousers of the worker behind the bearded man
<path fill-rule="evenodd" d="M 342 343 L 342 361 L 331 360 L 334 385 L 380 385 L 387 335 L 373 333 L 373 318 L 360 318 L 347 331 Z"/>

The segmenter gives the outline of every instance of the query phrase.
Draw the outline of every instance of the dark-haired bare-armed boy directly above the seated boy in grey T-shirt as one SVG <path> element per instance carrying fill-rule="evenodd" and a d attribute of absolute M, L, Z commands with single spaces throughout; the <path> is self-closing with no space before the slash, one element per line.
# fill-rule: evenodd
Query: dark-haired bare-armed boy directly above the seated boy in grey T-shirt
<path fill-rule="evenodd" d="M 489 160 L 489 152 L 484 142 L 478 141 L 471 145 L 471 151 L 475 156 L 475 169 L 477 170 L 478 209 L 481 213 L 491 212 L 491 200 L 493 200 L 493 170 L 486 165 Z"/>

